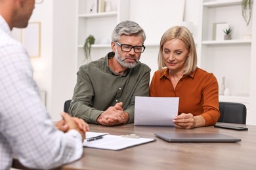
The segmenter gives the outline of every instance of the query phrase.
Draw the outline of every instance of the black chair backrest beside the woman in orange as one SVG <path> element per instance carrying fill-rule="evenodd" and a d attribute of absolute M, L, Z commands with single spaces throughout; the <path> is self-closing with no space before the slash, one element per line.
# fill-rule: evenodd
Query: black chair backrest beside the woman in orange
<path fill-rule="evenodd" d="M 246 107 L 242 103 L 219 102 L 221 116 L 218 122 L 246 124 Z"/>

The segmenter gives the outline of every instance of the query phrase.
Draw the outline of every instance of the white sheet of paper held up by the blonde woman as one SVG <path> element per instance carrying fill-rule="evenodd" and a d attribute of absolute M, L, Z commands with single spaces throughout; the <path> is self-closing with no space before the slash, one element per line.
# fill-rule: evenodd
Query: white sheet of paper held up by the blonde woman
<path fill-rule="evenodd" d="M 179 97 L 135 97 L 135 126 L 174 126 Z"/>

